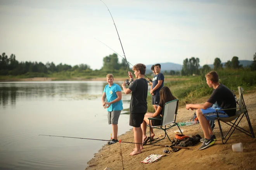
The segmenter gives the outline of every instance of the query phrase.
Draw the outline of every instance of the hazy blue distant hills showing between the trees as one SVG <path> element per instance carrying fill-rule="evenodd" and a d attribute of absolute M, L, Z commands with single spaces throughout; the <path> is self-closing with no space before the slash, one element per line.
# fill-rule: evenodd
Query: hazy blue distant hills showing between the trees
<path fill-rule="evenodd" d="M 239 60 L 239 65 L 243 65 L 243 67 L 249 67 L 251 64 L 253 63 L 253 61 L 250 61 L 250 60 Z M 161 64 L 161 72 L 163 73 L 165 70 L 166 71 L 171 71 L 171 70 L 174 70 L 174 71 L 180 71 L 182 70 L 182 65 L 180 64 L 175 64 L 175 63 L 159 63 Z M 223 64 L 223 67 L 225 67 L 225 63 L 221 63 Z M 153 64 L 152 64 L 153 65 Z M 148 73 L 152 73 L 152 71 L 150 70 L 151 66 L 152 65 L 146 65 L 146 74 Z M 211 68 L 213 68 L 213 64 L 212 65 L 209 65 Z M 200 66 L 200 68 L 202 68 L 202 65 Z"/>

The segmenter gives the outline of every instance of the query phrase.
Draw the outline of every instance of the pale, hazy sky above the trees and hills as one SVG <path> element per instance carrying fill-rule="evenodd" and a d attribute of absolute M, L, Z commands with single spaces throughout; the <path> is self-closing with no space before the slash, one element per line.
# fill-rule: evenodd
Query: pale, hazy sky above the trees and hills
<path fill-rule="evenodd" d="M 255 0 L 103 1 L 133 65 L 182 65 L 193 56 L 202 66 L 256 53 Z M 0 0 L 0 53 L 100 69 L 114 52 L 96 39 L 123 55 L 107 7 L 100 0 Z"/>

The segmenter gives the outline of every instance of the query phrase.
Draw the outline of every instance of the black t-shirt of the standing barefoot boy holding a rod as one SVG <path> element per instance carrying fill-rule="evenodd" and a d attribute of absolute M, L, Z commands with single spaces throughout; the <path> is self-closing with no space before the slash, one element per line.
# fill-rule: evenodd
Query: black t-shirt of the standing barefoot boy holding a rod
<path fill-rule="evenodd" d="M 139 78 L 128 87 L 131 93 L 130 113 L 147 112 L 147 80 Z"/>

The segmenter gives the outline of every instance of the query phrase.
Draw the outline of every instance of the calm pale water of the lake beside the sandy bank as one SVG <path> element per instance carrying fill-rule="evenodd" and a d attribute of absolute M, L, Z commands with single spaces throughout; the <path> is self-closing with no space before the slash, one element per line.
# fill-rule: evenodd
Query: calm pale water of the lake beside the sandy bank
<path fill-rule="evenodd" d="M 115 82 L 121 85 L 121 82 Z M 0 169 L 84 170 L 112 128 L 101 96 L 105 81 L 0 82 Z M 123 93 L 123 107 L 130 95 Z M 118 135 L 131 129 L 119 117 Z"/>

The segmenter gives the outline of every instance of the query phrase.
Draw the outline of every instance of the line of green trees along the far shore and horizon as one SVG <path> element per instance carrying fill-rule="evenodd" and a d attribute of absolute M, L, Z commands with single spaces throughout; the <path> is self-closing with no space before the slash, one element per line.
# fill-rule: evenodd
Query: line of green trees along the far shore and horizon
<path fill-rule="evenodd" d="M 191 57 L 183 60 L 182 70 L 180 71 L 164 71 L 166 75 L 199 75 L 200 73 L 206 73 L 210 70 L 209 65 L 204 65 L 200 68 L 200 59 Z M 221 64 L 220 58 L 214 59 L 214 68 L 213 70 L 224 69 L 223 64 Z M 130 68 L 130 65 L 128 65 Z M 225 63 L 225 68 L 239 69 L 242 68 L 242 65 L 239 65 L 239 58 L 234 56 L 231 61 L 228 60 Z M 43 73 L 44 75 L 59 73 L 62 71 L 74 71 L 76 73 L 84 73 L 86 75 L 99 75 L 99 73 L 106 74 L 106 72 L 118 73 L 119 75 L 126 75 L 126 61 L 122 59 L 121 62 L 118 60 L 117 54 L 111 54 L 103 58 L 103 66 L 100 70 L 92 70 L 89 65 L 80 64 L 80 65 L 67 65 L 60 63 L 55 65 L 53 62 L 47 62 L 43 64 L 42 62 L 19 62 L 16 60 L 15 54 L 11 54 L 8 57 L 5 53 L 0 55 L 0 75 L 23 75 L 26 73 Z M 252 71 L 256 71 L 256 53 L 253 56 L 253 64 L 250 66 Z"/>

